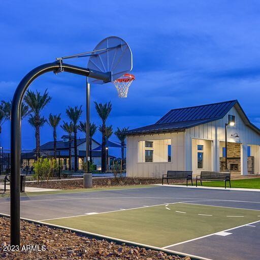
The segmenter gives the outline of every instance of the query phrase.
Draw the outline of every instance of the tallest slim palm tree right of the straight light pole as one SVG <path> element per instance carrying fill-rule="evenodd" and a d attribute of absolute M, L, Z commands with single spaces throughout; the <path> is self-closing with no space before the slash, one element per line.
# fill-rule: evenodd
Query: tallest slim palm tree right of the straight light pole
<path fill-rule="evenodd" d="M 111 112 L 112 105 L 111 102 L 103 104 L 95 103 L 96 112 L 98 112 L 102 120 L 102 158 L 101 158 L 101 171 L 106 171 L 106 120 Z"/>

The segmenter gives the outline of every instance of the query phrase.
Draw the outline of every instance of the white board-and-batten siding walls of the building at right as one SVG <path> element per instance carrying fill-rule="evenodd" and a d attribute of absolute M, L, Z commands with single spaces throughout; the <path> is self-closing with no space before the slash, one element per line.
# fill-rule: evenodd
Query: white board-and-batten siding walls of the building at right
<path fill-rule="evenodd" d="M 225 141 L 225 123 L 228 123 L 228 115 L 235 115 L 236 124 L 228 126 L 228 142 L 241 143 L 241 174 L 247 174 L 247 146 L 256 145 L 253 148 L 255 156 L 255 173 L 260 171 L 260 135 L 246 125 L 235 106 L 226 115 L 212 122 L 185 129 L 185 132 L 146 134 L 127 136 L 126 147 L 126 175 L 128 177 L 160 178 L 168 170 L 192 170 L 194 173 L 194 151 L 192 164 L 192 140 L 208 140 L 211 143 L 210 157 L 207 171 L 219 171 L 219 142 Z M 231 135 L 237 133 L 240 139 L 234 139 Z M 142 163 L 138 162 L 138 142 L 171 139 L 171 162 Z M 207 146 L 210 146 L 207 142 Z M 194 146 L 194 144 L 193 144 Z M 193 149 L 194 150 L 194 149 Z M 207 157 L 209 160 L 209 158 Z"/>

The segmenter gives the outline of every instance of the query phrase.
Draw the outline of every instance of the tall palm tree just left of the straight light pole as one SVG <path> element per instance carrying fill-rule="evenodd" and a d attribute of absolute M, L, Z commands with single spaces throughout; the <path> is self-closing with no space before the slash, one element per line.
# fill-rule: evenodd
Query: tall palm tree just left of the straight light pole
<path fill-rule="evenodd" d="M 73 123 L 73 132 L 74 132 L 74 171 L 76 172 L 78 170 L 78 151 L 77 151 L 77 129 L 78 129 L 78 121 L 82 114 L 82 106 L 78 108 L 78 106 L 75 106 L 75 108 L 69 107 L 66 109 L 66 114 L 70 118 L 70 120 Z"/>

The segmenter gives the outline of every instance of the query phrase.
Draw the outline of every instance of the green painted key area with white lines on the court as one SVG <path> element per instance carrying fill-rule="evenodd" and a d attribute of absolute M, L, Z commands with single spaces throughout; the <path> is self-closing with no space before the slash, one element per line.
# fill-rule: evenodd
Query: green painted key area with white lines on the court
<path fill-rule="evenodd" d="M 260 220 L 259 211 L 175 203 L 43 222 L 165 247 Z"/>

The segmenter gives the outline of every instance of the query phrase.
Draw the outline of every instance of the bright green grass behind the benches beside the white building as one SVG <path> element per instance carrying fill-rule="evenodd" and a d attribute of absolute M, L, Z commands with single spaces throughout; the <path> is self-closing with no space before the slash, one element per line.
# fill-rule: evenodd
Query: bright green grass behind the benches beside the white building
<path fill-rule="evenodd" d="M 203 186 L 215 186 L 215 187 L 224 187 L 224 181 L 203 181 Z M 198 186 L 200 186 L 200 182 L 198 182 Z M 229 182 L 226 183 L 226 187 L 229 187 Z M 252 179 L 239 179 L 239 180 L 231 180 L 232 188 L 248 188 L 248 189 L 260 189 L 260 178 L 252 178 Z"/>

